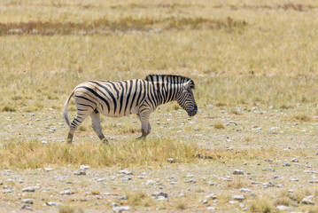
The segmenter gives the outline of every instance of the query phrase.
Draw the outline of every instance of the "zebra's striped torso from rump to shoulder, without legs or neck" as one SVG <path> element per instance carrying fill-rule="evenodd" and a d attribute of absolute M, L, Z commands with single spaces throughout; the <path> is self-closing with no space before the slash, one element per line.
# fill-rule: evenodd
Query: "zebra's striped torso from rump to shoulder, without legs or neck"
<path fill-rule="evenodd" d="M 139 79 L 88 81 L 75 88 L 75 103 L 79 111 L 89 108 L 112 117 L 137 114 L 145 96 L 146 83 Z"/>

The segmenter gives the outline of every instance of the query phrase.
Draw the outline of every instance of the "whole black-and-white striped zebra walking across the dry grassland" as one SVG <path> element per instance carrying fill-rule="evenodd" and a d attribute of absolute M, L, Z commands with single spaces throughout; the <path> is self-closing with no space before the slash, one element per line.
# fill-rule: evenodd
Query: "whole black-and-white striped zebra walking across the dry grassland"
<path fill-rule="evenodd" d="M 110 117 L 121 117 L 137 114 L 141 122 L 142 136 L 151 133 L 149 116 L 157 106 L 176 101 L 179 106 L 194 116 L 198 106 L 192 89 L 192 79 L 181 75 L 147 75 L 144 80 L 128 81 L 88 81 L 74 88 L 63 107 L 63 116 L 69 126 L 67 142 L 72 143 L 75 130 L 90 116 L 93 130 L 102 142 L 107 143 L 100 122 L 100 114 Z M 74 96 L 77 108 L 73 122 L 68 120 L 68 105 Z"/>

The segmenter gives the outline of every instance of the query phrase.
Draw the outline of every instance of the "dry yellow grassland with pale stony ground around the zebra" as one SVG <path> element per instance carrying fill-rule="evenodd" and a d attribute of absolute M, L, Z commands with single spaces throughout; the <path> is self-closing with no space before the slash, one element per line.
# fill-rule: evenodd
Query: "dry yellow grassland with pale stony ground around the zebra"
<path fill-rule="evenodd" d="M 0 211 L 27 211 L 31 198 L 35 212 L 105 212 L 112 202 L 318 212 L 317 16 L 316 1 L 1 1 Z M 87 119 L 66 145 L 61 109 L 74 86 L 149 74 L 191 77 L 198 114 L 160 106 L 145 141 L 134 140 L 135 115 L 103 117 L 109 145 Z M 74 175 L 81 164 L 87 175 Z"/>

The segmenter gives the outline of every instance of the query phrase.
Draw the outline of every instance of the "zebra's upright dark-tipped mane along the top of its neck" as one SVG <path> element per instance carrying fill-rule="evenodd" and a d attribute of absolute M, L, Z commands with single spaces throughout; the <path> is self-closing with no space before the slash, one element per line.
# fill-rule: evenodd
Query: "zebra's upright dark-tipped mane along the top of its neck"
<path fill-rule="evenodd" d="M 193 80 L 189 77 L 184 77 L 181 75 L 147 75 L 144 79 L 147 82 L 167 82 L 167 83 L 186 83 L 189 82 L 191 89 L 195 89 L 196 85 Z"/>

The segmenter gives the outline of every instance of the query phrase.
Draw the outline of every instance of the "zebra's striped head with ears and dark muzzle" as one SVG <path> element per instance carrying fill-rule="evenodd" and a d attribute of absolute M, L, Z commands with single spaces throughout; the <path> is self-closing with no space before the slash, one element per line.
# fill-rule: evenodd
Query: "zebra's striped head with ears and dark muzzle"
<path fill-rule="evenodd" d="M 194 99 L 192 89 L 194 89 L 192 80 L 182 84 L 182 92 L 180 93 L 177 102 L 188 113 L 189 116 L 194 116 L 198 112 L 198 106 Z"/>

